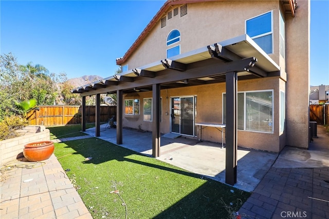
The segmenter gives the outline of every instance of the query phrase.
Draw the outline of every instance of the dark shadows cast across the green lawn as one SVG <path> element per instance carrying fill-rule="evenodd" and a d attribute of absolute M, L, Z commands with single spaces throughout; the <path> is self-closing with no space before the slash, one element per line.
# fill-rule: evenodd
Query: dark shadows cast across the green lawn
<path fill-rule="evenodd" d="M 77 143 L 78 141 L 81 141 L 81 143 Z M 144 155 L 122 148 L 113 143 L 96 140 L 96 138 L 67 141 L 65 144 L 67 148 L 72 148 L 76 151 L 74 154 L 80 154 L 84 157 L 93 157 L 91 160 L 82 161 L 83 163 L 93 163 L 97 165 L 109 160 L 127 161 L 189 177 L 203 178 L 203 176 L 199 174 L 168 167 L 166 163 L 164 163 L 165 166 L 160 166 L 155 163 L 128 158 L 130 155 Z M 235 192 L 232 193 L 232 189 Z M 169 208 L 163 209 L 162 212 L 154 216 L 154 218 L 228 218 L 228 213 L 224 205 L 230 206 L 232 209 L 232 207 L 236 207 L 237 200 L 241 198 L 242 202 L 235 209 L 238 210 L 248 196 L 249 193 L 247 192 L 237 190 L 224 184 L 220 185 L 220 182 L 212 179 L 206 179 L 202 186 L 196 188 L 193 192 L 181 198 Z M 227 203 L 224 204 L 222 198 L 226 200 Z M 233 205 L 231 206 L 230 203 Z"/>

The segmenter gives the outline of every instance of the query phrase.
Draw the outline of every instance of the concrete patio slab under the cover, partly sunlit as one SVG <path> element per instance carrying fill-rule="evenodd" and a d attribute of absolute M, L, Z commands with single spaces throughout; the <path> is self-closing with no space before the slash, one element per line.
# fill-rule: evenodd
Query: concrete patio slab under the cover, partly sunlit
<path fill-rule="evenodd" d="M 116 129 L 101 125 L 100 139 L 116 143 Z M 86 130 L 95 136 L 95 128 Z M 152 132 L 123 129 L 121 147 L 135 152 L 152 155 Z M 221 143 L 198 142 L 193 137 L 166 138 L 161 136 L 160 156 L 164 162 L 225 183 L 225 153 Z M 253 191 L 262 177 L 277 159 L 277 153 L 239 148 L 237 151 L 237 183 L 235 188 Z"/>

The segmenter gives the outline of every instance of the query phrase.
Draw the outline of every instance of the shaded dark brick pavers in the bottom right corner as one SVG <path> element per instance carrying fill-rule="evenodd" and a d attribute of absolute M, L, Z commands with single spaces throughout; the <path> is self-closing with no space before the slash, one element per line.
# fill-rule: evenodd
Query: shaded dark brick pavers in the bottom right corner
<path fill-rule="evenodd" d="M 329 168 L 271 168 L 239 212 L 253 218 L 329 218 Z"/>

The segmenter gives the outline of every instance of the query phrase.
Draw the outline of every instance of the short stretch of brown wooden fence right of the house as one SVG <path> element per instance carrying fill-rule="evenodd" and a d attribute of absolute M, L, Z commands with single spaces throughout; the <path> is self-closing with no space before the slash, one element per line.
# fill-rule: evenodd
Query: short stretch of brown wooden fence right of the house
<path fill-rule="evenodd" d="M 310 105 L 309 121 L 315 121 L 318 125 L 329 124 L 329 104 Z"/>

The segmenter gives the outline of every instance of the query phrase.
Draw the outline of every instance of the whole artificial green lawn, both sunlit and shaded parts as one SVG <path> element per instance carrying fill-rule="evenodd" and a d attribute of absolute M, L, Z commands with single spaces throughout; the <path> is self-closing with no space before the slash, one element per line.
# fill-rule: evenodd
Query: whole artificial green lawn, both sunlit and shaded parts
<path fill-rule="evenodd" d="M 54 154 L 93 218 L 229 218 L 224 205 L 250 195 L 98 138 L 55 143 Z"/>

